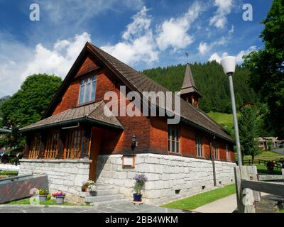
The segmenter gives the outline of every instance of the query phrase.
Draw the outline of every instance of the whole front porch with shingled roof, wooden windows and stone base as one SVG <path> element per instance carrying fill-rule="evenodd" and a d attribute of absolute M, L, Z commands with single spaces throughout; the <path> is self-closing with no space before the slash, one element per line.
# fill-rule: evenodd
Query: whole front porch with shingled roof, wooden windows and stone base
<path fill-rule="evenodd" d="M 119 140 L 123 132 L 114 116 L 105 116 L 106 107 L 99 101 L 21 128 L 26 147 L 19 174 L 48 175 L 51 191 L 79 195 L 84 181 L 96 180 L 97 157 L 108 139 L 105 135 Z"/>

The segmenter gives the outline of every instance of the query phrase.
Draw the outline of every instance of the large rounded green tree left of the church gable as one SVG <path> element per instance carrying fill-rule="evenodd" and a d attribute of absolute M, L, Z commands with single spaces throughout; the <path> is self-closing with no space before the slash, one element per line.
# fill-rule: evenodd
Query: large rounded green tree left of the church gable
<path fill-rule="evenodd" d="M 55 75 L 33 74 L 26 78 L 18 92 L 4 101 L 1 105 L 3 125 L 12 128 L 7 143 L 12 147 L 23 146 L 18 129 L 40 120 L 61 82 Z"/>

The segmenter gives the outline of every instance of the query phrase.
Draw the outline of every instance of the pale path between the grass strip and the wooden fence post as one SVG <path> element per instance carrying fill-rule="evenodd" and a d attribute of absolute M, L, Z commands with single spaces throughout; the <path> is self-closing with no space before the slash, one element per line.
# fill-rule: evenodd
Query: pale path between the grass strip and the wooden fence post
<path fill-rule="evenodd" d="M 213 201 L 210 204 L 205 204 L 200 206 L 197 209 L 194 209 L 193 212 L 200 213 L 232 213 L 237 209 L 236 204 L 236 194 L 231 194 L 217 201 Z"/>

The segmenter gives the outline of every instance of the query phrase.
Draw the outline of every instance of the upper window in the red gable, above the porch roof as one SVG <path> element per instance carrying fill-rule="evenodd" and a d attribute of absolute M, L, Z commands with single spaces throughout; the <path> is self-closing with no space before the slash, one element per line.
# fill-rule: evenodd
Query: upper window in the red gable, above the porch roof
<path fill-rule="evenodd" d="M 81 79 L 79 104 L 94 101 L 96 98 L 97 75 Z"/>

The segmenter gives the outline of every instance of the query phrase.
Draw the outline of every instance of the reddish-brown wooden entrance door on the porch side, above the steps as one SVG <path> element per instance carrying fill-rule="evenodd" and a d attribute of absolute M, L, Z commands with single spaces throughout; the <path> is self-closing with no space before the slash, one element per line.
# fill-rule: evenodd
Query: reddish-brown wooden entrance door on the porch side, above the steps
<path fill-rule="evenodd" d="M 92 160 L 92 163 L 89 166 L 89 179 L 94 182 L 96 181 L 97 157 L 99 155 L 101 134 L 100 128 L 92 128 L 90 148 L 90 159 Z"/>

